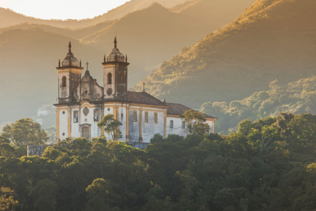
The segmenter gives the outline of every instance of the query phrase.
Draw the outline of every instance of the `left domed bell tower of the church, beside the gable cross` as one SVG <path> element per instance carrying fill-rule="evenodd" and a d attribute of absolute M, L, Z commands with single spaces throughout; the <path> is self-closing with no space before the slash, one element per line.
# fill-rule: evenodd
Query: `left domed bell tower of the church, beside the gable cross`
<path fill-rule="evenodd" d="M 69 51 L 65 58 L 58 62 L 58 103 L 67 103 L 73 101 L 73 93 L 79 86 L 81 79 L 81 60 L 74 57 L 71 53 L 71 43 L 69 42 Z"/>

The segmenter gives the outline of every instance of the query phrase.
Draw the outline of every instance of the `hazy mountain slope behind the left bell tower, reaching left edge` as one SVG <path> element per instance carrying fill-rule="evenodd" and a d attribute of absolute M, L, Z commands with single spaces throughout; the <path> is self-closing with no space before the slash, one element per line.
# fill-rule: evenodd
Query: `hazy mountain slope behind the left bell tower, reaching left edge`
<path fill-rule="evenodd" d="M 62 60 L 68 53 L 69 40 L 67 36 L 39 28 L 0 33 L 1 122 L 33 116 L 41 104 L 56 102 L 55 67 L 58 59 Z M 91 63 L 89 71 L 93 76 L 101 71 L 103 51 L 72 40 L 72 52 L 83 64 Z"/>

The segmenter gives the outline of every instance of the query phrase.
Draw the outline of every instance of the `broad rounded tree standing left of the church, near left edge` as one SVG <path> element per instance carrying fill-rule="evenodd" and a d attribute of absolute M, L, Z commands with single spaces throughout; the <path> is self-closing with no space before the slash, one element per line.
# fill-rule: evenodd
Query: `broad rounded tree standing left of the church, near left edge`
<path fill-rule="evenodd" d="M 49 137 L 39 123 L 32 118 L 24 118 L 3 127 L 1 136 L 8 138 L 16 146 L 44 144 Z"/>

